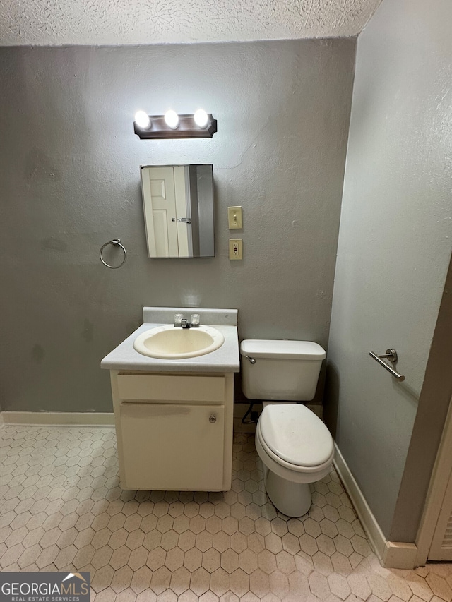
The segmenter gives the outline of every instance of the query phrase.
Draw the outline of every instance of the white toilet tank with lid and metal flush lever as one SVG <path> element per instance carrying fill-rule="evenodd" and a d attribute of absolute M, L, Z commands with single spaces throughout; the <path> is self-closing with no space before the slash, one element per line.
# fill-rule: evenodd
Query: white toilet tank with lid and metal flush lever
<path fill-rule="evenodd" d="M 264 339 L 242 341 L 240 354 L 245 397 L 305 402 L 316 394 L 326 357 L 325 350 L 311 341 Z"/>

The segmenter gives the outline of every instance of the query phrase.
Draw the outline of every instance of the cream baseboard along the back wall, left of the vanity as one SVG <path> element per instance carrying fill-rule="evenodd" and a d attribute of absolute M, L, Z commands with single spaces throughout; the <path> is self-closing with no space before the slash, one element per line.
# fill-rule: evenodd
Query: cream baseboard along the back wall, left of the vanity
<path fill-rule="evenodd" d="M 2 411 L 0 424 L 30 426 L 114 426 L 113 412 Z"/>

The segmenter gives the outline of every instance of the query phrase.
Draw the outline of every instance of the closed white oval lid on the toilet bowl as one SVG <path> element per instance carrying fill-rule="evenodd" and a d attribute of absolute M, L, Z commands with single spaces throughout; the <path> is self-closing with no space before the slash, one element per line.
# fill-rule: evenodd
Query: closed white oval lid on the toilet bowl
<path fill-rule="evenodd" d="M 264 407 L 261 436 L 277 456 L 296 466 L 318 466 L 333 453 L 330 431 L 314 412 L 301 404 Z"/>

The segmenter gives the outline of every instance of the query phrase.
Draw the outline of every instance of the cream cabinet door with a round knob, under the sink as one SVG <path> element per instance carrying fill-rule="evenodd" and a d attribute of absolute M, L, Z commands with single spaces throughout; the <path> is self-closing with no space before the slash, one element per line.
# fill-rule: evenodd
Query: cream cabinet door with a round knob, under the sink
<path fill-rule="evenodd" d="M 120 406 L 127 489 L 221 490 L 224 405 Z"/>

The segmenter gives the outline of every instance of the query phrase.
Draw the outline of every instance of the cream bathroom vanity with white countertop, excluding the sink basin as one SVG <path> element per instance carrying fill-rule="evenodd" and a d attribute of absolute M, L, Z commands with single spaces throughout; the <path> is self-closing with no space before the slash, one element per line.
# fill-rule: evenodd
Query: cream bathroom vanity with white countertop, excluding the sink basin
<path fill-rule="evenodd" d="M 134 349 L 143 333 L 171 324 L 177 313 L 190 317 L 194 311 L 201 325 L 224 337 L 215 351 L 162 359 Z M 239 371 L 237 310 L 143 308 L 143 319 L 101 363 L 112 383 L 121 487 L 229 490 L 234 372 Z"/>

